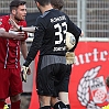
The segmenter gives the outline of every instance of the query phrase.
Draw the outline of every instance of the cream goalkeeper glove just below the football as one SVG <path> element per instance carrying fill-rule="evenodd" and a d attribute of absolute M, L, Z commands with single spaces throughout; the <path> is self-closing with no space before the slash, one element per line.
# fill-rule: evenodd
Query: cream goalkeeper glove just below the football
<path fill-rule="evenodd" d="M 75 63 L 75 53 L 66 52 L 66 64 L 74 64 L 74 63 Z"/>

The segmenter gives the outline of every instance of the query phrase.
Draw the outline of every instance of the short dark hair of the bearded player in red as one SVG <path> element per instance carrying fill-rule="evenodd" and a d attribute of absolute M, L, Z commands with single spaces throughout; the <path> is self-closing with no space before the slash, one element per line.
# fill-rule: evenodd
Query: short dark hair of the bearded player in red
<path fill-rule="evenodd" d="M 15 8 L 18 8 L 19 6 L 24 6 L 26 2 L 25 1 L 22 1 L 22 0 L 12 0 L 11 2 L 10 2 L 10 12 L 13 10 L 13 9 L 15 9 Z"/>

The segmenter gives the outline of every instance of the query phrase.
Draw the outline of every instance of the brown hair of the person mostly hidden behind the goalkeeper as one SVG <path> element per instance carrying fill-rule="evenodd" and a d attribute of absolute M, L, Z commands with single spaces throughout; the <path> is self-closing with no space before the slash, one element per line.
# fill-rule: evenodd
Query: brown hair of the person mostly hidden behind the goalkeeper
<path fill-rule="evenodd" d="M 58 9 L 58 10 L 62 10 L 62 8 L 64 7 L 63 0 L 51 0 L 51 3 L 55 9 Z"/>

